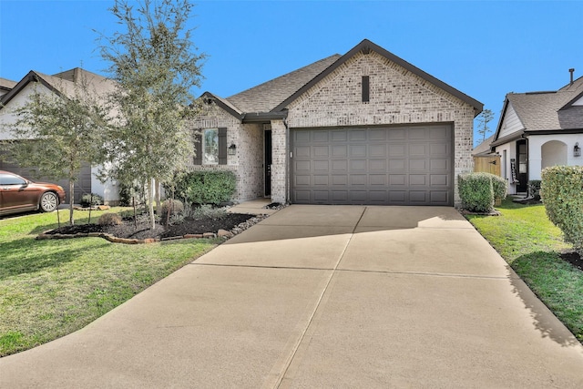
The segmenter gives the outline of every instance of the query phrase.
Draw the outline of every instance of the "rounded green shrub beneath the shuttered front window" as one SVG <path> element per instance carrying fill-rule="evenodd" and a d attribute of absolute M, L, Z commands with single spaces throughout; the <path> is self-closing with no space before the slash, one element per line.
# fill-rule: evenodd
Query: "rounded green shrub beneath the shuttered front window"
<path fill-rule="evenodd" d="M 232 171 L 189 171 L 165 185 L 188 204 L 220 205 L 231 200 L 237 180 Z"/>

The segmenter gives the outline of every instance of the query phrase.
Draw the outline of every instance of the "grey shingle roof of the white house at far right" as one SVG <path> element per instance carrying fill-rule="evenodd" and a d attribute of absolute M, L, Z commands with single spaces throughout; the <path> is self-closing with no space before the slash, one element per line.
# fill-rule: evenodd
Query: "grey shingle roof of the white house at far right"
<path fill-rule="evenodd" d="M 569 105 L 582 94 L 583 77 L 580 77 L 557 91 L 509 93 L 506 98 L 527 131 L 541 131 L 583 128 L 583 107 Z"/>

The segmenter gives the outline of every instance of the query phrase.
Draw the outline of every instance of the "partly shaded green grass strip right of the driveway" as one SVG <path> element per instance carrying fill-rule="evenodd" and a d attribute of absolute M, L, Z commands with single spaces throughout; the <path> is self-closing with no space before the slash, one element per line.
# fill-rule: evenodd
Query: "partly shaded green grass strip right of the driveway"
<path fill-rule="evenodd" d="M 583 271 L 560 258 L 571 246 L 547 218 L 542 204 L 504 200 L 501 215 L 467 219 L 500 253 L 518 276 L 583 342 Z"/>

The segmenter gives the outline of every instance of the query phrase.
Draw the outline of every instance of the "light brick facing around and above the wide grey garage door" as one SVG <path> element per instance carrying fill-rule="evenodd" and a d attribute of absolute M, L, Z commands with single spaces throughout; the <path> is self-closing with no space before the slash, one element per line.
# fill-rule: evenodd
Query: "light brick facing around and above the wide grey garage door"
<path fill-rule="evenodd" d="M 370 101 L 361 100 L 362 77 L 370 77 Z M 359 53 L 290 104 L 286 122 L 272 121 L 271 198 L 289 199 L 289 128 L 451 123 L 454 128 L 455 205 L 457 176 L 471 172 L 474 107 L 375 52 Z"/>

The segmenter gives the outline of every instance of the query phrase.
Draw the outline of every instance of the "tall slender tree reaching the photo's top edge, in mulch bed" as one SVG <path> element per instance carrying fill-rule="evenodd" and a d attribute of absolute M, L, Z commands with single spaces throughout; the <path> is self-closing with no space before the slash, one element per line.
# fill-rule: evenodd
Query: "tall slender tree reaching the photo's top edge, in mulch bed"
<path fill-rule="evenodd" d="M 125 0 L 110 8 L 124 30 L 105 37 L 101 55 L 111 63 L 118 82 L 111 95 L 117 125 L 107 148 L 108 175 L 123 183 L 148 183 L 151 228 L 154 228 L 155 181 L 171 179 L 192 151 L 186 119 L 196 107 L 190 94 L 199 87 L 204 55 L 194 53 L 186 28 L 189 0 L 140 0 L 134 9 Z"/>

